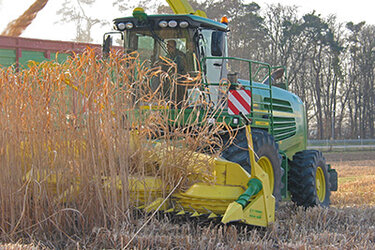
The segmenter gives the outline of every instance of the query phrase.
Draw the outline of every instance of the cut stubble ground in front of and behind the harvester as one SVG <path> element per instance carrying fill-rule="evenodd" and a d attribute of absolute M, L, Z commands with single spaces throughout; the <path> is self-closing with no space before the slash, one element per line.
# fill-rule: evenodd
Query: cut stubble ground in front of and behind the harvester
<path fill-rule="evenodd" d="M 374 249 L 375 152 L 326 153 L 327 163 L 339 175 L 339 190 L 329 209 L 281 204 L 276 222 L 267 229 L 218 224 L 171 223 L 153 219 L 137 235 L 131 249 Z M 70 248 L 123 248 L 145 219 L 124 222 L 121 229 L 100 230 Z M 27 245 L 27 249 L 56 247 L 52 242 Z M 37 247 L 34 247 L 37 246 Z M 58 245 L 62 246 L 62 245 Z M 58 247 L 57 246 L 57 247 Z M 21 245 L 1 248 L 23 249 Z"/>

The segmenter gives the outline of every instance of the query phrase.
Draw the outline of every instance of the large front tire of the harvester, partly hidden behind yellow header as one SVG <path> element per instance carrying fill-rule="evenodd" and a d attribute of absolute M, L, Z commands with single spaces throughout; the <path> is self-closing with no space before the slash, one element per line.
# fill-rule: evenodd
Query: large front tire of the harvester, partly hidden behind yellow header
<path fill-rule="evenodd" d="M 267 131 L 261 129 L 252 129 L 251 134 L 253 137 L 254 152 L 256 161 L 263 166 L 270 165 L 271 168 L 265 170 L 266 172 L 272 171 L 273 177 L 273 196 L 275 197 L 276 207 L 281 201 L 281 177 L 284 170 L 281 167 L 281 155 L 279 154 L 279 146 L 275 142 L 272 135 Z M 224 143 L 228 140 L 224 137 Z M 227 145 L 221 156 L 235 163 L 240 164 L 247 172 L 251 172 L 250 156 L 248 151 L 248 144 L 246 138 L 246 130 L 241 129 L 238 131 L 233 143 Z M 263 162 L 261 164 L 260 162 Z M 266 164 L 264 164 L 266 162 Z M 270 163 L 270 164 L 267 164 Z M 263 165 L 263 166 L 262 166 Z M 263 168 L 264 169 L 264 168 Z M 271 184 L 272 185 L 272 184 Z"/>

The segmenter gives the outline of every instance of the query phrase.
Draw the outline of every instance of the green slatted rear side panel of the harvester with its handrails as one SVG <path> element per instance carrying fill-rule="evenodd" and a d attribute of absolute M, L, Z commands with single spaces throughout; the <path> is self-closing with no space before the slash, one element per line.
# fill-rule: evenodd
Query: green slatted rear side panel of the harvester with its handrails
<path fill-rule="evenodd" d="M 252 121 L 251 127 L 268 130 L 279 144 L 280 151 L 290 160 L 296 152 L 305 150 L 307 147 L 307 120 L 305 106 L 301 99 L 287 91 L 287 82 L 281 84 L 285 88 L 283 89 L 252 80 L 254 78 L 252 69 L 256 66 L 266 68 L 269 77 L 271 71 L 279 67 L 271 67 L 267 63 L 236 57 L 206 57 L 202 60 L 203 68 L 205 68 L 206 61 L 220 58 L 248 63 L 249 79 L 251 80 L 238 80 L 238 83 L 235 83 L 234 86 L 241 86 L 241 88 L 248 89 L 251 92 L 251 113 L 248 115 L 248 118 Z M 226 116 L 226 123 L 231 127 L 244 125 L 241 122 L 240 124 L 233 124 L 234 117 L 241 121 L 239 115 L 229 115 L 225 111 L 222 115 Z"/>

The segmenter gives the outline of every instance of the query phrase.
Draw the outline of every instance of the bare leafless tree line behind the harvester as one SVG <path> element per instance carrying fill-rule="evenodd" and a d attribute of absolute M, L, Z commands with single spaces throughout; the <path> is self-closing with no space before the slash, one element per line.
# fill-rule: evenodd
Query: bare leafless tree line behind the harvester
<path fill-rule="evenodd" d="M 375 138 L 374 25 L 343 23 L 314 11 L 303 14 L 281 4 L 261 8 L 243 0 L 189 2 L 211 19 L 229 18 L 231 56 L 286 66 L 289 89 L 306 105 L 310 138 Z M 138 3 L 171 13 L 164 1 Z M 134 7 L 127 1 L 114 1 L 114 6 Z"/>

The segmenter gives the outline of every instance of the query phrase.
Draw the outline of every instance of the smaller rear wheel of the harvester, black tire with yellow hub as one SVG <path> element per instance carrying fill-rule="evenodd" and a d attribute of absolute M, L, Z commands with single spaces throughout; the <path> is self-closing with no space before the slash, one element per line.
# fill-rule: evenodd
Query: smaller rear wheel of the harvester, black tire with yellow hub
<path fill-rule="evenodd" d="M 297 152 L 290 162 L 289 191 L 297 206 L 328 207 L 330 178 L 323 154 L 317 150 Z"/>

